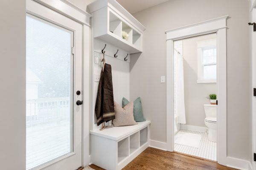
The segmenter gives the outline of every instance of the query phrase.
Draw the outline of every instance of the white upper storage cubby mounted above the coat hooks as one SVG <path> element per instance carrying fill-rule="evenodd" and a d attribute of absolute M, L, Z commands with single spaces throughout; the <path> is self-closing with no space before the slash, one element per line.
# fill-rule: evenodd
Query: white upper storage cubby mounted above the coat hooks
<path fill-rule="evenodd" d="M 142 52 L 145 27 L 115 0 L 88 5 L 93 18 L 93 38 L 99 38 L 130 54 Z"/>

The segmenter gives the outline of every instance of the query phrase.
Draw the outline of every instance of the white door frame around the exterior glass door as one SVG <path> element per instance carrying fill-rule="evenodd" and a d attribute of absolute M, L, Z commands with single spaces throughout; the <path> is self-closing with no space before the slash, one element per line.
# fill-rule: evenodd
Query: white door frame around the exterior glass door
<path fill-rule="evenodd" d="M 53 11 L 62 14 L 82 25 L 82 166 L 90 164 L 90 14 L 81 10 L 67 0 L 26 0 L 26 11 L 37 15 L 33 5 L 41 4 Z"/>

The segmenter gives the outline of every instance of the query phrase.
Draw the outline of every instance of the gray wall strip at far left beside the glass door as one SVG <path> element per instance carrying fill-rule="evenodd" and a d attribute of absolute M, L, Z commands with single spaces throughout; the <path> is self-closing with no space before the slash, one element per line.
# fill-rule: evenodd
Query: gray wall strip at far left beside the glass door
<path fill-rule="evenodd" d="M 0 1 L 0 169 L 26 168 L 26 0 Z"/>

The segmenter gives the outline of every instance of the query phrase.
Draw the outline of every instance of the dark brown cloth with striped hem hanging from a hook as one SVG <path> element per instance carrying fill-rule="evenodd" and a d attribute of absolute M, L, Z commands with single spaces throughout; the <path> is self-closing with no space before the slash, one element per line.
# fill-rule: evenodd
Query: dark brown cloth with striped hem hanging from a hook
<path fill-rule="evenodd" d="M 100 74 L 95 105 L 97 125 L 115 119 L 111 65 L 105 64 Z"/>

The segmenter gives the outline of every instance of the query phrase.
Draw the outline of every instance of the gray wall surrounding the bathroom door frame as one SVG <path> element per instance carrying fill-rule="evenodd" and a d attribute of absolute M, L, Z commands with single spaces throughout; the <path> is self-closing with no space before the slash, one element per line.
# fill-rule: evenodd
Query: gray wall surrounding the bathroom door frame
<path fill-rule="evenodd" d="M 141 96 L 152 140 L 166 142 L 164 31 L 229 14 L 227 20 L 227 154 L 250 159 L 250 59 L 247 0 L 170 0 L 134 16 L 147 28 L 143 53 L 131 56 L 131 99 Z"/>

